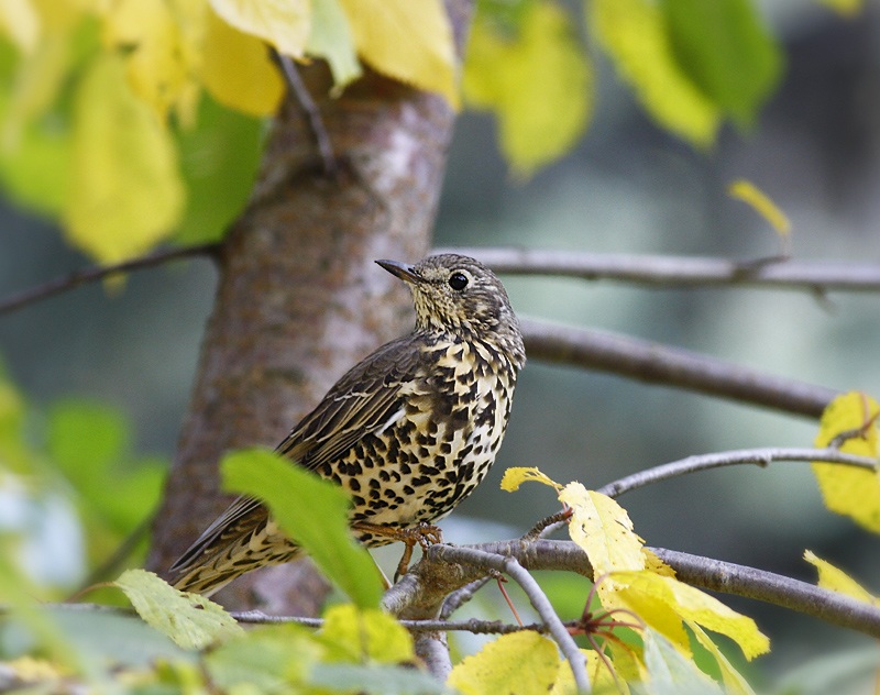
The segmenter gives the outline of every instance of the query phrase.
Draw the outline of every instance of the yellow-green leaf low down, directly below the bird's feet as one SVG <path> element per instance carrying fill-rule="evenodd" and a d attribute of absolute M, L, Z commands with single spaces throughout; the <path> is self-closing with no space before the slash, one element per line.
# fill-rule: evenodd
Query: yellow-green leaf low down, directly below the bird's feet
<path fill-rule="evenodd" d="M 400 663 L 416 658 L 407 629 L 377 608 L 332 606 L 324 614 L 320 635 L 329 649 L 329 661 Z"/>

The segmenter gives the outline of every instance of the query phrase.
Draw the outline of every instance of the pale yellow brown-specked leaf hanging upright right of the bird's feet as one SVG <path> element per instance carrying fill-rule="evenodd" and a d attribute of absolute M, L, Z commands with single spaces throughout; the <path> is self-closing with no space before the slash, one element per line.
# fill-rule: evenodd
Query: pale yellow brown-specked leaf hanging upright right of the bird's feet
<path fill-rule="evenodd" d="M 615 500 L 580 483 L 569 483 L 559 500 L 572 509 L 569 533 L 590 558 L 595 580 L 608 572 L 645 569 L 644 542 L 632 531 L 626 509 Z M 610 582 L 616 582 L 614 576 Z"/>

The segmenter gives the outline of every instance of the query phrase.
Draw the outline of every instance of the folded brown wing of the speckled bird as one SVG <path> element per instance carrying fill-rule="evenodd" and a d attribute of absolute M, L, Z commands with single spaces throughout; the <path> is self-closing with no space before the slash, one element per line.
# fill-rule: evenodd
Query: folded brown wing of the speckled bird
<path fill-rule="evenodd" d="M 425 358 L 413 343 L 406 335 L 352 367 L 276 451 L 314 470 L 393 424 L 404 415 L 402 387 L 418 379 Z"/>

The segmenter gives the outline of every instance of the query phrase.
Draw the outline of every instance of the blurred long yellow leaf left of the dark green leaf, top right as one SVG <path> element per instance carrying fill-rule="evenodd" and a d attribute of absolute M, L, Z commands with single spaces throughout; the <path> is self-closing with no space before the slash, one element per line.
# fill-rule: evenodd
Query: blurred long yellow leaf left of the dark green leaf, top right
<path fill-rule="evenodd" d="M 593 0 L 596 38 L 648 112 L 673 133 L 705 147 L 721 114 L 679 69 L 661 10 L 651 0 Z"/>

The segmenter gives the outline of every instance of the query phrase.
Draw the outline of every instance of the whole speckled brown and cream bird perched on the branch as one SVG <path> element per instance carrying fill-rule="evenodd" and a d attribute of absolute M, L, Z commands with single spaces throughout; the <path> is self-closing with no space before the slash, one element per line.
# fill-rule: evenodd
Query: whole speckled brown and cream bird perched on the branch
<path fill-rule="evenodd" d="M 367 548 L 442 519 L 483 481 L 526 363 L 504 285 L 483 264 L 451 253 L 376 263 L 411 290 L 415 329 L 354 365 L 276 448 L 348 493 L 349 525 Z M 168 573 L 175 588 L 210 596 L 301 554 L 242 496 Z"/>

